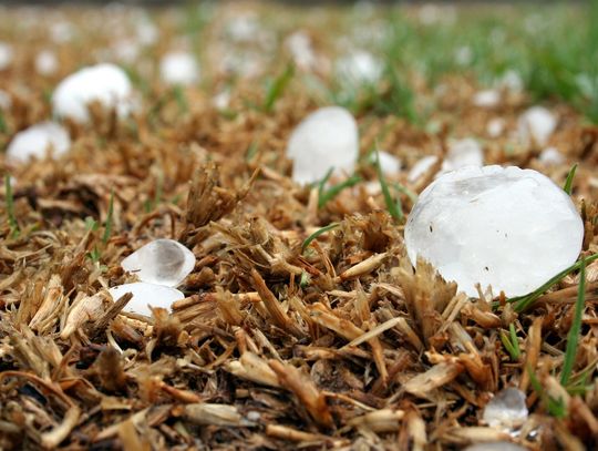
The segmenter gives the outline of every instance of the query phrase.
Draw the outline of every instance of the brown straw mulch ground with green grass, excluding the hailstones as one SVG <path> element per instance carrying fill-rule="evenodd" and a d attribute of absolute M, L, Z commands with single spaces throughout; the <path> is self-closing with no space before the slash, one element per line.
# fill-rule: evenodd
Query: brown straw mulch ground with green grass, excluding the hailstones
<path fill-rule="evenodd" d="M 586 221 L 584 255 L 597 252 L 598 59 L 588 11 L 361 3 L 0 16 L 0 41 L 13 48 L 0 71 L 10 99 L 0 148 L 51 117 L 54 86 L 82 65 L 121 64 L 140 95 L 128 120 L 94 109 L 92 125 L 69 123 L 72 147 L 58 161 L 17 165 L 0 155 L 16 181 L 0 204 L 0 449 L 598 445 L 598 267 L 587 268 L 563 387 L 576 271 L 519 311 L 504 298 L 463 298 L 429 267 L 414 273 L 403 245 L 410 194 L 437 167 L 414 183 L 409 170 L 442 157 L 452 137 L 475 137 L 485 163 L 537 168 L 558 184 L 579 163 L 573 197 Z M 254 28 L 235 40 L 226 30 L 239 17 Z M 154 42 L 137 43 L 143 27 L 155 27 Z M 290 69 L 283 42 L 297 30 L 311 39 L 312 66 Z M 161 82 L 157 60 L 177 48 L 198 57 L 197 85 Z M 353 48 L 384 62 L 378 82 L 339 81 L 334 60 Z M 50 75 L 34 68 L 44 49 L 60 61 Z M 520 89 L 501 82 L 508 70 Z M 489 86 L 501 101 L 476 106 L 474 94 Z M 229 100 L 215 106 L 221 93 Z M 358 117 L 362 182 L 324 203 L 329 192 L 290 181 L 283 150 L 308 112 L 332 103 Z M 544 147 L 514 135 L 537 103 L 558 115 Z M 491 135 L 497 117 L 504 131 Z M 367 191 L 378 183 L 368 157 L 375 145 L 403 163 L 388 176 L 399 187 L 390 193 L 396 217 Z M 548 146 L 565 162 L 542 163 Z M 172 315 L 118 315 L 106 288 L 134 279 L 120 262 L 163 237 L 197 258 L 186 299 Z M 513 437 L 481 422 L 492 394 L 508 386 L 526 393 L 530 410 Z"/>

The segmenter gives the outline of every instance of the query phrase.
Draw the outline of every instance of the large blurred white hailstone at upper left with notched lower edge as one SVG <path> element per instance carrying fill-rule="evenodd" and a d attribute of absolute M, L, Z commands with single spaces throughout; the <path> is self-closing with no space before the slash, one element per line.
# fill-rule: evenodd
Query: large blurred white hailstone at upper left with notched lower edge
<path fill-rule="evenodd" d="M 87 106 L 100 102 L 106 109 L 115 109 L 120 117 L 133 107 L 131 81 L 118 66 L 102 63 L 70 74 L 60 82 L 52 95 L 52 107 L 59 117 L 89 122 Z"/>

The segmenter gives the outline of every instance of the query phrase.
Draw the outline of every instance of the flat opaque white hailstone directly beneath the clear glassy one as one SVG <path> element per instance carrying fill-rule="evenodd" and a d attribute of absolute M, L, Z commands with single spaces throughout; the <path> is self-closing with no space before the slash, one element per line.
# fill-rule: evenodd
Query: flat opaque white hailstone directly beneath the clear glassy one
<path fill-rule="evenodd" d="M 115 301 L 127 293 L 133 294 L 133 297 L 123 308 L 123 311 L 145 316 L 152 316 L 150 306 L 169 309 L 173 303 L 185 298 L 185 295 L 176 288 L 147 284 L 145 281 L 118 285 L 110 288 L 109 293 Z"/>

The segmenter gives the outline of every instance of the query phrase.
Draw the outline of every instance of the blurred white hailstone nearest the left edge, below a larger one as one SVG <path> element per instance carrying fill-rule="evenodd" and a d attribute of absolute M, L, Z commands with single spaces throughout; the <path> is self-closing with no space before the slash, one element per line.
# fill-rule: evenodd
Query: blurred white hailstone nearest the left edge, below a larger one
<path fill-rule="evenodd" d="M 7 158 L 25 163 L 31 157 L 43 158 L 49 150 L 53 156 L 60 156 L 70 146 L 65 129 L 54 122 L 42 122 L 14 135 L 7 148 Z"/>

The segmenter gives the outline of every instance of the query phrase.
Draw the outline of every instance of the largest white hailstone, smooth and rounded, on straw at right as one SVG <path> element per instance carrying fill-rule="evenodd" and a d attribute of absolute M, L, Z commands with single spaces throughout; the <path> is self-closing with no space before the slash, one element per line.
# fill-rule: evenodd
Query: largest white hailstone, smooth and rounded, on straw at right
<path fill-rule="evenodd" d="M 405 227 L 409 258 L 430 262 L 468 296 L 475 285 L 525 295 L 574 264 L 584 224 L 567 194 L 518 167 L 464 167 L 420 195 Z"/>

